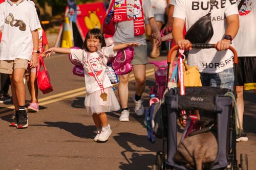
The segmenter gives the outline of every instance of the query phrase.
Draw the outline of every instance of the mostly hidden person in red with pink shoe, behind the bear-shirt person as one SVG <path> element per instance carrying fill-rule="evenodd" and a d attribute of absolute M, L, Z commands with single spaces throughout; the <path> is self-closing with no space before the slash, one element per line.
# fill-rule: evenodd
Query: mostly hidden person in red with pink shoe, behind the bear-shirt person
<path fill-rule="evenodd" d="M 36 9 L 38 18 L 40 18 L 39 8 L 37 6 L 35 6 L 35 9 Z M 47 51 L 49 49 L 49 44 L 48 44 L 48 40 L 46 37 L 44 25 L 42 25 L 41 21 L 40 21 L 40 25 L 41 25 L 41 28 L 38 29 L 38 36 L 39 36 L 38 51 L 39 51 L 39 53 L 42 53 L 42 52 L 44 52 L 44 50 Z M 27 83 L 28 83 L 29 93 L 31 95 L 31 100 L 30 100 L 30 104 L 28 107 L 28 111 L 29 112 L 38 112 L 39 104 L 38 104 L 38 99 L 37 99 L 38 85 L 37 85 L 37 78 L 36 78 L 36 68 L 30 68 L 30 66 L 28 66 L 28 68 L 25 72 L 25 76 L 26 76 Z"/>

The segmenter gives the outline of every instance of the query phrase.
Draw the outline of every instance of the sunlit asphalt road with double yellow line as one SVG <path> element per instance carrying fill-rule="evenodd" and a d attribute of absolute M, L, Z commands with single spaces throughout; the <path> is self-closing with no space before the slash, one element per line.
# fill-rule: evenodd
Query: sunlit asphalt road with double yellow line
<path fill-rule="evenodd" d="M 164 60 L 159 57 L 155 60 Z M 83 107 L 84 79 L 73 76 L 67 55 L 45 60 L 54 91 L 39 92 L 40 111 L 28 113 L 29 127 L 8 127 L 12 105 L 0 105 L 0 169 L 151 169 L 161 140 L 147 141 L 143 117 L 133 110 L 134 78 L 129 84 L 130 122 L 120 123 L 120 112 L 108 113 L 112 135 L 105 143 L 93 141 L 93 119 Z M 147 65 L 144 105 L 148 106 L 149 87 L 154 70 Z M 116 95 L 117 90 L 115 90 Z M 27 100 L 30 97 L 27 93 Z M 244 129 L 249 141 L 237 143 L 238 155 L 247 153 L 249 168 L 256 167 L 256 95 L 245 92 Z M 256 169 L 256 168 L 255 168 Z"/>

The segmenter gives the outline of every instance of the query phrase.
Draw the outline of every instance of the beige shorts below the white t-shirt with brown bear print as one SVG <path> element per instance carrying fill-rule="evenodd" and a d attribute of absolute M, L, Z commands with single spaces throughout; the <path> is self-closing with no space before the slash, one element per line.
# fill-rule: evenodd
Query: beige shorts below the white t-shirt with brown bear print
<path fill-rule="evenodd" d="M 4 74 L 13 74 L 16 68 L 27 69 L 28 60 L 16 58 L 15 60 L 0 60 L 0 72 Z"/>

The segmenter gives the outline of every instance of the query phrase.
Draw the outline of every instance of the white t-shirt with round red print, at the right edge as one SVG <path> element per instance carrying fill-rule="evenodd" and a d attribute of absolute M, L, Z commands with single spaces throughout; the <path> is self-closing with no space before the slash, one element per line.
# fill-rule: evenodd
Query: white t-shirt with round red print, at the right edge
<path fill-rule="evenodd" d="M 237 1 L 239 5 L 241 0 Z M 245 0 L 239 10 L 240 28 L 234 38 L 239 57 L 256 57 L 256 0 Z"/>

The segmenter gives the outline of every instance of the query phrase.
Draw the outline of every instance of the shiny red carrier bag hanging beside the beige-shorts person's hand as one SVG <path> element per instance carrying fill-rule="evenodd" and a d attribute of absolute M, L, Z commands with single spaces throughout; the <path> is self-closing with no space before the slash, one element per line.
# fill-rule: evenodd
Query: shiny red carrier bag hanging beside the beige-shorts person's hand
<path fill-rule="evenodd" d="M 49 72 L 46 69 L 44 59 L 42 57 L 38 57 L 39 63 L 37 66 L 37 83 L 38 88 L 42 91 L 42 93 L 46 94 L 53 91 L 53 87 L 51 85 Z M 44 67 L 42 71 L 40 71 L 41 66 Z"/>

